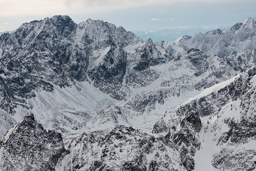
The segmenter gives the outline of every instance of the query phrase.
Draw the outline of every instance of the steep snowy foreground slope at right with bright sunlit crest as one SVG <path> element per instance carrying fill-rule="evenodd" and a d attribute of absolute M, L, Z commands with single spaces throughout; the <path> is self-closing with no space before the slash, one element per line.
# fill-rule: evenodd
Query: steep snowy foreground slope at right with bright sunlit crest
<path fill-rule="evenodd" d="M 171 130 L 168 137 L 172 137 L 170 136 L 172 134 L 173 137 L 178 137 L 178 141 L 186 144 L 181 155 L 184 154 L 183 151 L 191 155 L 190 159 L 186 160 L 188 163 L 184 164 L 189 166 L 186 169 L 205 168 L 204 164 L 202 164 L 204 167 L 200 166 L 200 161 L 204 158 L 209 162 L 208 166 L 216 169 L 240 170 L 245 165 L 249 170 L 255 169 L 253 158 L 256 153 L 251 144 L 256 136 L 255 112 L 254 107 L 249 107 L 254 103 L 255 74 L 255 67 L 253 67 L 233 79 L 205 89 L 200 95 L 181 104 L 178 108 L 166 112 L 165 118 L 161 121 L 165 120 L 162 124 Z M 181 120 L 182 116 L 185 118 Z M 203 122 L 200 117 L 204 120 Z M 190 129 L 184 129 L 187 122 L 190 123 Z M 175 131 L 177 128 L 175 123 L 180 123 L 178 133 Z M 174 139 L 174 143 L 176 141 Z M 245 151 L 242 152 L 242 149 Z M 199 151 L 196 152 L 196 150 Z M 230 157 L 227 159 L 225 156 Z"/>

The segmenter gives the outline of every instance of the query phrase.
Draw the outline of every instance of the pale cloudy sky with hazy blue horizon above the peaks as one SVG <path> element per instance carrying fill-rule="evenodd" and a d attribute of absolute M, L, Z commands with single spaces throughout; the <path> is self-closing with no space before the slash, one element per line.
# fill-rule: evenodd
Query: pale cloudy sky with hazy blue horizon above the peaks
<path fill-rule="evenodd" d="M 0 0 L 0 32 L 53 15 L 88 18 L 128 31 L 229 27 L 256 17 L 255 0 Z"/>

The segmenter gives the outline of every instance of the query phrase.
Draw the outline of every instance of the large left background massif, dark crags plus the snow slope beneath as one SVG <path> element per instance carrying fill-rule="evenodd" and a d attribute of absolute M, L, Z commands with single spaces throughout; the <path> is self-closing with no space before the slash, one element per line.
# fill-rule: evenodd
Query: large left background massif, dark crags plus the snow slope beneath
<path fill-rule="evenodd" d="M 90 121 L 104 107 L 103 101 L 113 104 L 134 93 L 130 86 L 151 84 L 159 73 L 149 67 L 170 57 L 152 40 L 143 42 L 123 27 L 91 19 L 76 24 L 68 16 L 25 23 L 3 34 L 0 42 L 2 115 L 15 115 L 19 121 L 32 110 L 44 120 L 44 127 L 63 133 L 70 132 L 63 129 L 67 123 L 53 122 L 56 115 L 74 114 L 67 121 L 86 113 L 83 120 Z M 147 79 L 138 82 L 142 78 Z M 47 105 L 47 111 L 40 104 Z M 2 132 L 14 123 L 6 124 Z M 69 127 L 82 124 L 80 119 L 74 123 L 78 125 Z"/>

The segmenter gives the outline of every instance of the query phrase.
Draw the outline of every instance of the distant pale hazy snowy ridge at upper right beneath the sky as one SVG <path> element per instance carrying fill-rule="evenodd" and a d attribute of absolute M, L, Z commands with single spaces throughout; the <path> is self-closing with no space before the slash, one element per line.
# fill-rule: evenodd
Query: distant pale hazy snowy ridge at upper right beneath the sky
<path fill-rule="evenodd" d="M 207 55 L 219 57 L 234 55 L 239 52 L 256 48 L 256 18 L 248 18 L 243 23 L 237 23 L 231 28 L 213 30 L 194 35 L 193 38 L 183 36 L 178 39 L 178 46 L 189 50 L 198 48 Z"/>

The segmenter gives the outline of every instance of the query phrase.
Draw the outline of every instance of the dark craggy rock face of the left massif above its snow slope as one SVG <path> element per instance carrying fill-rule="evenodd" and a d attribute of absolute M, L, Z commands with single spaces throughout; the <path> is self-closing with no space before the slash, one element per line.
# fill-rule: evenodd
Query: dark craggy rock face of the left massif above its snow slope
<path fill-rule="evenodd" d="M 0 39 L 1 108 L 15 113 L 23 98 L 35 96 L 36 89 L 53 91 L 52 84 L 70 86 L 72 81 L 90 80 L 115 99 L 127 67 L 124 47 L 142 40 L 124 28 L 103 21 L 76 24 L 67 16 L 55 16 L 20 26 Z M 117 87 L 113 87 L 113 85 Z"/>

